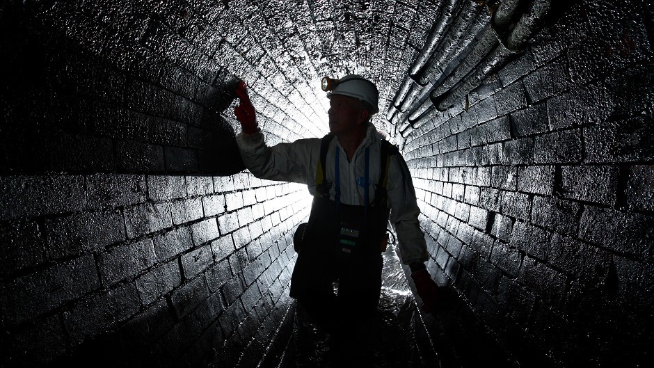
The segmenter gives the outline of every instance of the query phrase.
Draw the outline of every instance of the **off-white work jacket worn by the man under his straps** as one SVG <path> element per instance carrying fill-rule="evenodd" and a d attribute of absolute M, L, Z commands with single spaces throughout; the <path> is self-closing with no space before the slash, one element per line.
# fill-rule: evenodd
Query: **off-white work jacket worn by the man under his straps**
<path fill-rule="evenodd" d="M 320 160 L 321 138 L 298 139 L 292 143 L 278 143 L 268 147 L 264 135 L 240 133 L 237 144 L 250 173 L 260 179 L 307 184 L 309 193 L 317 195 L 316 174 Z M 365 149 L 369 147 L 369 203 L 374 201 L 374 188 L 379 182 L 381 141 L 374 125 L 370 124 L 366 137 L 348 161 L 337 138 L 329 143 L 326 157 L 326 180 L 333 183 L 331 200 L 336 195 L 336 152 L 339 158 L 340 202 L 346 205 L 365 205 Z M 401 260 L 404 264 L 425 262 L 427 259 L 424 233 L 420 229 L 415 189 L 406 162 L 399 154 L 390 156 L 388 168 L 389 221 L 397 234 Z"/>

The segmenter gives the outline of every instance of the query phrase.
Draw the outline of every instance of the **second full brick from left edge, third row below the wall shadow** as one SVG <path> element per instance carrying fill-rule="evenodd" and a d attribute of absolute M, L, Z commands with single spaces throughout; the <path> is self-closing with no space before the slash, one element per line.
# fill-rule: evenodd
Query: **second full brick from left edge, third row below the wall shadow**
<path fill-rule="evenodd" d="M 152 239 L 127 243 L 98 256 L 98 269 L 105 286 L 131 278 L 157 261 Z"/>

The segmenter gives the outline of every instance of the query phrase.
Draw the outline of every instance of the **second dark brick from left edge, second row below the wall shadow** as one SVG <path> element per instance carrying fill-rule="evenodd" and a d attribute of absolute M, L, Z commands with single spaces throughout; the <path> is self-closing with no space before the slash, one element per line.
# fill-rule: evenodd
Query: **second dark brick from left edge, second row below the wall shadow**
<path fill-rule="evenodd" d="M 118 211 L 74 214 L 45 221 L 48 253 L 59 259 L 104 250 L 125 240 L 125 221 Z"/>

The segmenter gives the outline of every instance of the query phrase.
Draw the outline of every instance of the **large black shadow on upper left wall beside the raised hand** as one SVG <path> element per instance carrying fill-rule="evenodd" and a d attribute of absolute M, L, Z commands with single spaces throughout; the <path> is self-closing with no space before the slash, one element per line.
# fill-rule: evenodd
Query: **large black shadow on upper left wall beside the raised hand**
<path fill-rule="evenodd" d="M 26 14 L 29 7 L 3 7 L 18 16 L 1 26 L 10 37 L 0 40 L 0 173 L 244 170 L 234 129 L 221 116 L 234 99 L 230 73 L 218 65 L 192 73 L 145 47 L 116 55 L 96 45 L 104 49 L 92 54 L 54 27 L 42 32 L 47 24 Z"/>

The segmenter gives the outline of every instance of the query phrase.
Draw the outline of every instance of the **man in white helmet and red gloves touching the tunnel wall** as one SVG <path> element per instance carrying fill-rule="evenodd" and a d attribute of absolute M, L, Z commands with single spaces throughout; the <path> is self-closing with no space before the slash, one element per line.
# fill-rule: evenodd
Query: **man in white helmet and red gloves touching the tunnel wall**
<path fill-rule="evenodd" d="M 370 348 L 389 219 L 426 312 L 433 310 L 436 283 L 424 266 L 428 254 L 406 162 L 378 138 L 371 122 L 378 112 L 376 86 L 356 74 L 324 82 L 330 99 L 325 138 L 266 146 L 244 82 L 236 90 L 241 101 L 234 113 L 243 130 L 237 144 L 250 172 L 307 184 L 314 196 L 308 225 L 296 236 L 301 246 L 295 244 L 290 295 L 349 359 Z"/>

